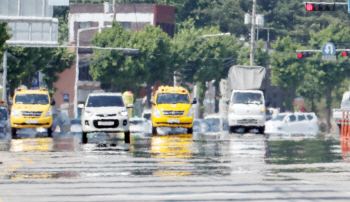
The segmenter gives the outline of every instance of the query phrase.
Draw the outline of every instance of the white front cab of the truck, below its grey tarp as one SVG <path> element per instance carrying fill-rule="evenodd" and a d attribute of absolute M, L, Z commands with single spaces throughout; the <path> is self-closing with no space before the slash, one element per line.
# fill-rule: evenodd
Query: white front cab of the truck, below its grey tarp
<path fill-rule="evenodd" d="M 238 128 L 265 131 L 265 99 L 260 90 L 234 90 L 229 100 L 228 121 L 231 132 Z"/>

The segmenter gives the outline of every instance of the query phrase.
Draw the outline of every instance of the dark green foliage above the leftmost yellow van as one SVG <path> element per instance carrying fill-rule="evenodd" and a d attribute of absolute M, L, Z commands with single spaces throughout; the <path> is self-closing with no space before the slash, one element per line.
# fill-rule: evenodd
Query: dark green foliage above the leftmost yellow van
<path fill-rule="evenodd" d="M 8 81 L 11 92 L 19 85 L 31 87 L 36 72 L 45 74 L 44 82 L 51 92 L 54 92 L 53 83 L 59 77 L 57 73 L 70 68 L 75 54 L 62 48 L 23 48 L 15 47 L 8 50 Z"/>

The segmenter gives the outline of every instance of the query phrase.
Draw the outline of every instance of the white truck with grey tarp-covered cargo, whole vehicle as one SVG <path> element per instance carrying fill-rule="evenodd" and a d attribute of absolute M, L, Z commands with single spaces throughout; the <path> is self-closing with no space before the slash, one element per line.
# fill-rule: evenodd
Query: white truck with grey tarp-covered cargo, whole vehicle
<path fill-rule="evenodd" d="M 258 129 L 264 134 L 266 120 L 266 69 L 261 66 L 232 66 L 227 78 L 226 103 L 230 131 Z"/>

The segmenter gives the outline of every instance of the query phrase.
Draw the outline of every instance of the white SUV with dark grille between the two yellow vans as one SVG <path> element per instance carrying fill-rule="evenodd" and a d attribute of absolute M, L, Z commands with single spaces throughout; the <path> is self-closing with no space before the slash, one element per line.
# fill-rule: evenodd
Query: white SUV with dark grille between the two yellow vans
<path fill-rule="evenodd" d="M 129 111 L 121 93 L 91 93 L 82 109 L 82 142 L 87 143 L 87 133 L 124 132 L 125 142 L 130 143 Z"/>

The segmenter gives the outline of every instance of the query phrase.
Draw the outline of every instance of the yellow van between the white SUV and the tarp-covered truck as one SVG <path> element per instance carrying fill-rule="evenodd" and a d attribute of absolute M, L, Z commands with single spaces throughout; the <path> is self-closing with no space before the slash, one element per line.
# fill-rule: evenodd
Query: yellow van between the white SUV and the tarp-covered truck
<path fill-rule="evenodd" d="M 196 99 L 191 97 L 183 87 L 160 86 L 152 101 L 153 134 L 157 134 L 157 127 L 183 127 L 192 133 L 193 108 Z"/>

